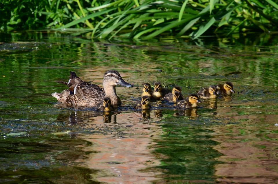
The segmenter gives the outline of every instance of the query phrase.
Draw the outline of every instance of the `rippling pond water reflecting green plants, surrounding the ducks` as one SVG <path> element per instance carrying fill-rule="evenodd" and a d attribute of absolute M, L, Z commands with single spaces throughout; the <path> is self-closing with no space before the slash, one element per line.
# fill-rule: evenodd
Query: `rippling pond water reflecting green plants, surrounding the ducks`
<path fill-rule="evenodd" d="M 0 183 L 278 183 L 276 34 L 92 41 L 57 32 L 0 37 Z M 102 86 L 115 69 L 133 88 L 104 114 L 60 104 L 75 71 Z M 184 96 L 231 81 L 235 94 L 177 110 L 133 110 L 142 83 Z"/>

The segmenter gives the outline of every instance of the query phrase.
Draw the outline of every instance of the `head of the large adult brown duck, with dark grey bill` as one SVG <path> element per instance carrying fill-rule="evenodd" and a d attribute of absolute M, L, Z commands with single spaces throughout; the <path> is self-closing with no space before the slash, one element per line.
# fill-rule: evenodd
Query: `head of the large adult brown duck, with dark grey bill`
<path fill-rule="evenodd" d="M 122 77 L 120 76 L 119 72 L 117 72 L 116 70 L 107 70 L 104 73 L 103 87 L 105 87 L 107 85 L 113 86 L 113 87 L 115 87 L 116 85 L 122 85 L 122 86 L 125 86 L 127 88 L 132 88 L 133 87 L 133 85 L 124 81 L 122 79 Z"/>

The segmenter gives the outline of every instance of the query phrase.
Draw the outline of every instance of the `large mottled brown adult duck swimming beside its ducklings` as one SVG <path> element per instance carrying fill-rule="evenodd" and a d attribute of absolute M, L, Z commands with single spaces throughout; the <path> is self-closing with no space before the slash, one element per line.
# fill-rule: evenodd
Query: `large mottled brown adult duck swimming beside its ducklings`
<path fill-rule="evenodd" d="M 103 103 L 104 98 L 110 98 L 113 106 L 121 104 L 120 98 L 116 94 L 116 85 L 122 85 L 132 88 L 133 85 L 125 82 L 116 70 L 107 70 L 103 76 L 103 88 L 98 85 L 89 84 L 82 81 L 74 72 L 70 73 L 69 82 L 59 83 L 67 84 L 69 90 L 61 93 L 52 93 L 59 102 L 68 103 L 77 106 L 96 107 Z"/>

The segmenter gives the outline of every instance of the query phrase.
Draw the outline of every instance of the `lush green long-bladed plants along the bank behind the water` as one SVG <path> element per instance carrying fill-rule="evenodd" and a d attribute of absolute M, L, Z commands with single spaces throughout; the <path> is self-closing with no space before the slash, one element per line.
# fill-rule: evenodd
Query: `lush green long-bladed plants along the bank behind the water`
<path fill-rule="evenodd" d="M 272 0 L 0 0 L 0 32 L 64 30 L 92 38 L 149 40 L 159 35 L 271 32 L 278 1 Z M 76 34 L 76 35 L 78 35 Z"/>

